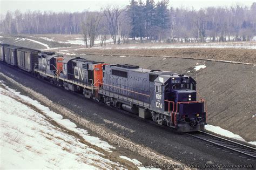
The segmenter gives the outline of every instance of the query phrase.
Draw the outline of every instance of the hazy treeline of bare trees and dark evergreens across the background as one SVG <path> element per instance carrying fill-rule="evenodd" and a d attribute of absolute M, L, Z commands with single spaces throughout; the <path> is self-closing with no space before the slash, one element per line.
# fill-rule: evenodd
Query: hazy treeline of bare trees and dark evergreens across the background
<path fill-rule="evenodd" d="M 209 7 L 200 10 L 169 8 L 169 1 L 135 1 L 124 9 L 107 7 L 100 12 L 7 12 L 0 23 L 4 33 L 80 34 L 87 46 L 96 38 L 103 45 L 108 35 L 114 44 L 128 38 L 142 42 L 219 42 L 250 40 L 256 35 L 256 3 L 250 7 Z"/>

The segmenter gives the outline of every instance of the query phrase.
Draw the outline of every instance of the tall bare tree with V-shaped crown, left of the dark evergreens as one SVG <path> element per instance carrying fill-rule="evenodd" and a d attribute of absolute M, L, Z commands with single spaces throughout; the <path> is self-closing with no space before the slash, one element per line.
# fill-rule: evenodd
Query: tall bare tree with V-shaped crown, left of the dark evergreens
<path fill-rule="evenodd" d="M 117 31 L 119 22 L 118 19 L 122 11 L 122 9 L 117 7 L 107 7 L 103 10 L 104 16 L 106 17 L 107 23 L 109 25 L 109 32 L 114 44 L 116 44 L 117 42 Z"/>

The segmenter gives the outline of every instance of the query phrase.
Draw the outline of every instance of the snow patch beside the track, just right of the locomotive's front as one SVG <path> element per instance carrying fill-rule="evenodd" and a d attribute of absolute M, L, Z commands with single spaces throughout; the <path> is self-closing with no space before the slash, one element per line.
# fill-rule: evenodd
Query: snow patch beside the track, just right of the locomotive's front
<path fill-rule="evenodd" d="M 205 125 L 205 130 L 211 131 L 211 132 L 216 133 L 216 134 L 223 135 L 224 137 L 245 141 L 245 139 L 240 137 L 240 135 L 234 134 L 233 132 L 227 131 L 224 128 L 221 128 L 219 126 Z"/>

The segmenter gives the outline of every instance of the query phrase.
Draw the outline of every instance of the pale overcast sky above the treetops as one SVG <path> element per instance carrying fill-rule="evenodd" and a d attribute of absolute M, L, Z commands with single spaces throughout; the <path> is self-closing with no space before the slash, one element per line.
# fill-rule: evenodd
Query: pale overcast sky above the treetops
<path fill-rule="evenodd" d="M 129 5 L 129 2 L 130 0 L 0 0 L 0 13 L 3 15 L 8 10 L 15 11 L 16 9 L 22 12 L 26 10 L 76 12 L 85 9 L 97 11 L 106 5 L 124 7 Z M 155 0 L 155 2 L 158 2 L 158 0 Z M 256 2 L 256 0 L 170 0 L 170 5 L 174 8 L 183 6 L 184 8 L 200 9 L 207 6 L 233 6 L 237 4 L 251 6 L 253 2 Z"/>

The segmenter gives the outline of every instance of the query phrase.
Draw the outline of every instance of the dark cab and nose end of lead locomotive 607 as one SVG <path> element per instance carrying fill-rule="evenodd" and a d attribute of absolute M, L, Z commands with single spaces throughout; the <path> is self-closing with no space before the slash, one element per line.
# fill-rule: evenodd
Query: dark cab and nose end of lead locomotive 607
<path fill-rule="evenodd" d="M 197 101 L 196 81 L 181 74 L 160 75 L 154 80 L 152 106 L 168 126 L 189 132 L 204 129 L 204 101 Z M 168 119 L 170 116 L 170 119 Z"/>

